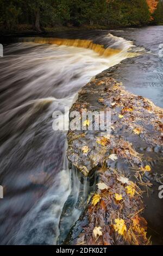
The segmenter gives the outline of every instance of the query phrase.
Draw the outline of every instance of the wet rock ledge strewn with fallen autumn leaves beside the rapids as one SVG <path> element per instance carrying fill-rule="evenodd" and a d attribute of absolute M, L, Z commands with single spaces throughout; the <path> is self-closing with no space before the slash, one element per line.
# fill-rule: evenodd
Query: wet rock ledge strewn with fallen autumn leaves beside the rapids
<path fill-rule="evenodd" d="M 162 164 L 163 111 L 145 97 L 127 92 L 125 84 L 111 78 L 112 69 L 83 87 L 70 111 L 109 111 L 111 133 L 68 132 L 72 170 L 84 176 L 96 172 L 99 181 L 66 244 L 145 245 L 151 243 L 148 231 L 151 235 L 150 229 L 155 229 L 153 223 L 147 231 L 151 220 L 146 198 L 152 202 L 161 184 L 161 170 L 158 176 L 155 171 Z M 90 124 L 88 119 L 87 128 Z M 157 242 L 155 234 L 152 241 Z"/>

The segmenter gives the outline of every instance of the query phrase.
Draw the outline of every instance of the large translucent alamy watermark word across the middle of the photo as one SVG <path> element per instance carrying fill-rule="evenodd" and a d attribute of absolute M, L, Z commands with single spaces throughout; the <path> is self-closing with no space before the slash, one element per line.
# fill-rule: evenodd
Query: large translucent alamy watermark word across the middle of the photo
<path fill-rule="evenodd" d="M 53 116 L 54 131 L 111 131 L 111 112 L 110 111 L 71 111 L 65 107 L 65 113 L 54 111 Z M 70 119 L 70 122 L 69 122 Z"/>

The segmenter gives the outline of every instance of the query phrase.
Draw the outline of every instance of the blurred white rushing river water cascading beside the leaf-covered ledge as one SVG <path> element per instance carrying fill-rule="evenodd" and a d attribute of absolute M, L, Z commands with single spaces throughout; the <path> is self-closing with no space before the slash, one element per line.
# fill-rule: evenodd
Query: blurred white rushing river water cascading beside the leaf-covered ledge
<path fill-rule="evenodd" d="M 134 44 L 139 47 L 133 47 L 131 43 L 137 31 L 56 35 L 69 40 L 93 40 L 91 47 L 87 47 L 86 41 L 84 44 L 65 40 L 47 44 L 47 39 L 31 38 L 18 39 L 4 47 L 0 62 L 0 184 L 4 187 L 4 198 L 0 202 L 2 244 L 61 243 L 78 219 L 87 193 L 93 191 L 95 182 L 82 180 L 68 169 L 65 157 L 67 131 L 52 129 L 52 115 L 54 111 L 64 113 L 65 106 L 71 107 L 78 90 L 93 76 L 127 57 L 134 57 L 135 53 L 127 51 L 145 52 L 141 47 L 144 42 L 140 45 L 137 39 Z M 127 40 L 123 39 L 123 33 Z M 142 29 L 141 33 L 148 34 L 148 28 Z M 129 39 L 129 35 L 133 38 Z M 107 51 L 104 53 L 99 45 L 104 45 Z M 134 58 L 131 61 L 134 62 Z M 157 63 L 161 61 L 159 59 Z M 137 64 L 140 69 L 141 65 L 145 69 L 143 61 Z M 150 67 L 154 69 L 152 64 Z M 133 75 L 132 68 L 128 72 Z M 126 76 L 126 72 L 123 75 Z M 156 77 L 161 80 L 160 67 Z M 162 87 L 155 86 L 155 90 L 161 92 Z M 153 96 L 153 101 L 161 106 L 160 99 L 160 95 Z"/>

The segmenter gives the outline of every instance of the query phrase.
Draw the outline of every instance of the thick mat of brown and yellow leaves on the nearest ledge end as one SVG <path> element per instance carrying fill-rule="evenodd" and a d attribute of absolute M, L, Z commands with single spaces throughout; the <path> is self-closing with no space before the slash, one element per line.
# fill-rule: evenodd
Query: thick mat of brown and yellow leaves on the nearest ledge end
<path fill-rule="evenodd" d="M 100 180 L 84 214 L 88 224 L 73 245 L 149 245 L 140 188 L 115 170 Z"/>

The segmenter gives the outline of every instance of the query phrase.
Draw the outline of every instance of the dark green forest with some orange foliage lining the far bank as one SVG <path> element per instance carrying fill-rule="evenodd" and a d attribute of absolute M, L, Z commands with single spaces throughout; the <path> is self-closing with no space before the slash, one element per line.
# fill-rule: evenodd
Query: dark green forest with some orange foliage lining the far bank
<path fill-rule="evenodd" d="M 159 2 L 159 3 L 158 3 Z M 150 0 L 0 0 L 1 30 L 144 26 L 163 23 L 163 2 Z"/>

